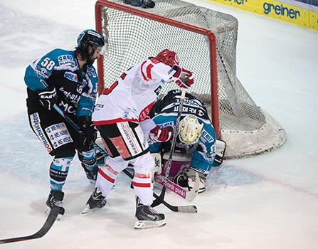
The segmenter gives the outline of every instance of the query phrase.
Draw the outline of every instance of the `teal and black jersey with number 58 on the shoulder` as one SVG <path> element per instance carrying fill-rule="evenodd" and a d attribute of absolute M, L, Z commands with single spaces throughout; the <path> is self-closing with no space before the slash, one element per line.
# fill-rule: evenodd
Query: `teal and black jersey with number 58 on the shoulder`
<path fill-rule="evenodd" d="M 92 115 L 98 78 L 93 65 L 79 68 L 75 51 L 54 49 L 26 68 L 24 81 L 33 92 L 55 87 L 58 105 L 77 117 Z M 36 96 L 36 95 L 34 95 Z"/>

